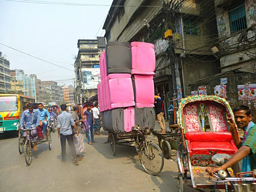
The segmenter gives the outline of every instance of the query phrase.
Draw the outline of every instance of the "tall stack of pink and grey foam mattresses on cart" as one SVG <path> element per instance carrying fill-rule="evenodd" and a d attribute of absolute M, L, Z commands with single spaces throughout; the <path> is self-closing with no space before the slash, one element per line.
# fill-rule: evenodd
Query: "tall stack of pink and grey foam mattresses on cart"
<path fill-rule="evenodd" d="M 154 128 L 154 69 L 153 44 L 108 42 L 100 56 L 98 85 L 105 130 L 129 132 L 134 125 Z"/>

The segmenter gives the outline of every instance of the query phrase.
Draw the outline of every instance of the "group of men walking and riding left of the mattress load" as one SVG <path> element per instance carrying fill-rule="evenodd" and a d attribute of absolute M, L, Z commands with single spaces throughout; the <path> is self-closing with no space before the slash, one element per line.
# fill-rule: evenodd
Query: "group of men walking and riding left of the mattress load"
<path fill-rule="evenodd" d="M 101 122 L 101 116 L 98 108 L 98 103 L 96 103 L 92 109 L 91 105 L 88 104 L 83 117 L 81 104 L 74 105 L 72 113 L 67 113 L 67 105 L 61 105 L 62 113 L 58 115 L 57 118 L 57 129 L 58 138 L 60 138 L 61 141 L 61 155 L 63 162 L 66 161 L 66 140 L 70 146 L 74 164 L 78 165 L 78 161 L 83 159 L 83 156 L 80 154 L 85 149 L 81 127 L 81 123 L 84 122 L 84 120 L 87 121 L 89 125 L 89 129 L 86 131 L 87 143 L 89 145 L 96 143 L 94 140 L 94 134 L 100 135 Z M 26 106 L 23 106 L 23 113 L 20 114 L 20 134 L 24 139 L 26 137 L 26 132 L 23 131 L 23 129 L 31 130 L 30 139 L 34 143 L 34 151 L 38 150 L 36 146 L 39 136 L 38 131 L 42 132 L 43 138 L 41 139 L 47 138 L 47 125 L 50 116 L 57 117 L 57 111 L 55 109 L 56 108 L 53 106 L 52 108 L 49 108 L 49 111 L 47 111 L 42 103 L 38 103 L 37 109 L 34 109 L 32 103 L 27 103 Z"/>

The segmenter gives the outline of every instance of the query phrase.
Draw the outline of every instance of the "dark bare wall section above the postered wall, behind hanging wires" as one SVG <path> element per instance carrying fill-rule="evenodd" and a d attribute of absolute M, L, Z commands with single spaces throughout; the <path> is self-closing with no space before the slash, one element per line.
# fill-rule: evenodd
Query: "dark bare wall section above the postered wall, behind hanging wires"
<path fill-rule="evenodd" d="M 216 58 L 213 56 L 208 56 L 202 61 L 193 61 L 189 57 L 183 58 L 183 83 L 185 95 L 191 95 L 193 89 L 188 85 L 192 82 L 220 73 L 220 69 L 218 69 L 220 67 L 219 61 L 214 61 L 215 59 Z"/>

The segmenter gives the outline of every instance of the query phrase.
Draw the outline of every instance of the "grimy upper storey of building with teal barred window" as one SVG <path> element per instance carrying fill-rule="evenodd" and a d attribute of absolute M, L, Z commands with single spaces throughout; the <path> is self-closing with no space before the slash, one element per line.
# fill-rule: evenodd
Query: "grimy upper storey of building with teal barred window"
<path fill-rule="evenodd" d="M 255 73 L 256 1 L 215 0 L 215 9 L 221 72 L 239 69 Z"/>

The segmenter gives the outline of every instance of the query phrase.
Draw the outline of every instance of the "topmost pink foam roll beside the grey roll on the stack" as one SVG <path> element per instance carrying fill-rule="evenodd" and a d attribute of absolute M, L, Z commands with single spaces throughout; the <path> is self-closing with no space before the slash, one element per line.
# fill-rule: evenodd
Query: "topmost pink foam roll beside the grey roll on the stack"
<path fill-rule="evenodd" d="M 131 43 L 132 74 L 154 75 L 155 65 L 156 58 L 153 44 Z"/>

